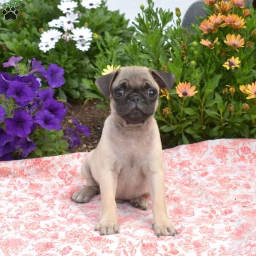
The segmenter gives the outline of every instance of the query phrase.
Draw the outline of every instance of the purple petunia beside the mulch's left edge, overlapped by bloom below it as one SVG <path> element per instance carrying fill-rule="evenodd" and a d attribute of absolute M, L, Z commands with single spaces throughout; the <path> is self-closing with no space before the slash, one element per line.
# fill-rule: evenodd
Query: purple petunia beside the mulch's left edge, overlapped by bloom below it
<path fill-rule="evenodd" d="M 59 120 L 59 122 L 63 121 L 64 116 L 67 113 L 64 104 L 58 102 L 55 99 L 47 99 L 44 102 L 42 110 L 48 110 L 50 114 L 54 115 L 55 118 Z"/>

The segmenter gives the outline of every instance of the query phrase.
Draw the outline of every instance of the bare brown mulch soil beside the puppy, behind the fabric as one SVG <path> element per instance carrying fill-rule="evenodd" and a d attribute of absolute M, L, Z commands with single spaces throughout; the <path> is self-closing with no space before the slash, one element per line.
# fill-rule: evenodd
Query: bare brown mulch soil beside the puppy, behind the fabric
<path fill-rule="evenodd" d="M 75 117 L 79 120 L 80 124 L 88 126 L 90 130 L 90 136 L 86 137 L 85 135 L 81 135 L 81 145 L 73 148 L 71 152 L 91 151 L 98 145 L 104 121 L 110 114 L 110 110 L 96 108 L 97 103 L 100 102 L 97 100 L 91 100 L 84 105 L 83 101 L 69 101 L 63 128 L 70 125 L 72 126 L 72 124 L 70 124 L 70 118 Z M 161 134 L 161 140 L 163 149 L 168 148 L 168 134 Z"/>

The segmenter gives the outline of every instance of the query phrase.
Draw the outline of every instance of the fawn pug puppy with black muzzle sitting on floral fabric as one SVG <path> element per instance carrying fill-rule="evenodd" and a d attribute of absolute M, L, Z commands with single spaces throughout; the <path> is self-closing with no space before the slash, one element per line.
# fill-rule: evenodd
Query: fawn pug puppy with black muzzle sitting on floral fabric
<path fill-rule="evenodd" d="M 175 236 L 166 212 L 162 145 L 153 118 L 160 89 L 171 90 L 175 77 L 146 67 L 121 67 L 96 80 L 101 93 L 110 97 L 111 114 L 102 137 L 81 166 L 87 184 L 72 200 L 86 203 L 101 193 L 102 216 L 95 230 L 101 235 L 119 232 L 116 200 L 147 209 L 153 203 L 154 233 Z"/>

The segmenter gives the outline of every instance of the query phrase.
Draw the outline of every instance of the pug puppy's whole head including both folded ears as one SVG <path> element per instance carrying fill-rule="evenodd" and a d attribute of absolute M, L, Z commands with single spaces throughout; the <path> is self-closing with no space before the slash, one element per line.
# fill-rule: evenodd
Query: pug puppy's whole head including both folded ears
<path fill-rule="evenodd" d="M 128 123 L 144 122 L 154 115 L 160 88 L 166 88 L 166 76 L 170 88 L 174 76 L 170 73 L 150 70 L 146 67 L 122 67 L 96 80 L 99 90 L 111 99 L 111 108 Z"/>

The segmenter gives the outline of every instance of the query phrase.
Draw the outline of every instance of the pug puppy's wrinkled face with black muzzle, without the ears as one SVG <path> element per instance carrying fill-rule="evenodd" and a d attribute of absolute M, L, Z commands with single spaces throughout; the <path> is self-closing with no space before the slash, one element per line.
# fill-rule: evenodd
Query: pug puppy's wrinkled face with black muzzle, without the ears
<path fill-rule="evenodd" d="M 116 113 L 128 123 L 137 124 L 154 114 L 158 93 L 148 69 L 125 67 L 116 76 L 110 97 Z"/>

